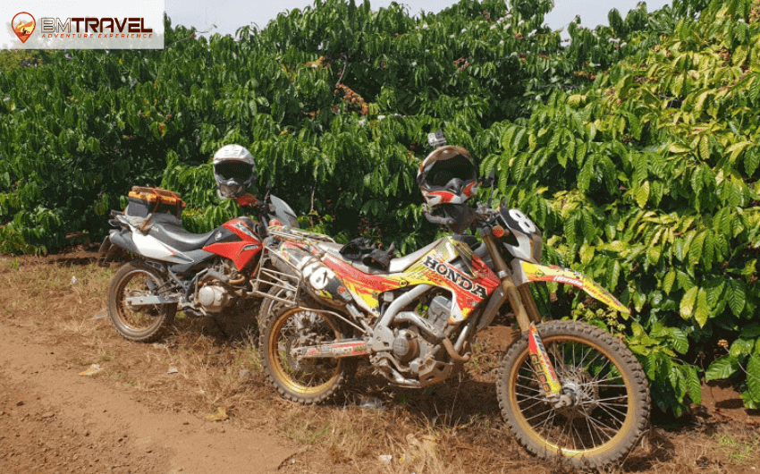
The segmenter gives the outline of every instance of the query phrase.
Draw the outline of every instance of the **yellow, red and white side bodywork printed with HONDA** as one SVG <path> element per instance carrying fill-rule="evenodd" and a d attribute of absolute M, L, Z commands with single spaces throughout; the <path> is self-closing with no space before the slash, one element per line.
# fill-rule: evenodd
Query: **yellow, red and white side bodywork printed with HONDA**
<path fill-rule="evenodd" d="M 396 274 L 367 274 L 332 254 L 326 255 L 323 262 L 341 278 L 342 284 L 359 305 L 372 314 L 379 313 L 379 299 L 383 292 L 417 284 L 450 289 L 454 296 L 450 322 L 458 323 L 469 317 L 472 310 L 500 283 L 480 258 L 473 256 L 469 248 L 465 251 L 463 247 L 466 248 L 466 245 L 462 242 L 445 237 L 405 272 Z M 471 272 L 466 266 L 460 268 L 450 263 L 457 257 L 471 261 Z"/>

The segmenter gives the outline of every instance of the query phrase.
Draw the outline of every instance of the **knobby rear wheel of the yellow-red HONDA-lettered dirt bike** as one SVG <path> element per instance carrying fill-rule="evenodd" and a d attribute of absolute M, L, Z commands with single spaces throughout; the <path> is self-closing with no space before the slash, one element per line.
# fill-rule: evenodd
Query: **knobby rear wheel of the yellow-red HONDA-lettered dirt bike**
<path fill-rule="evenodd" d="M 350 359 L 296 360 L 291 348 L 330 343 L 344 332 L 334 317 L 274 303 L 258 338 L 264 372 L 283 398 L 303 405 L 329 400 L 356 367 Z"/>

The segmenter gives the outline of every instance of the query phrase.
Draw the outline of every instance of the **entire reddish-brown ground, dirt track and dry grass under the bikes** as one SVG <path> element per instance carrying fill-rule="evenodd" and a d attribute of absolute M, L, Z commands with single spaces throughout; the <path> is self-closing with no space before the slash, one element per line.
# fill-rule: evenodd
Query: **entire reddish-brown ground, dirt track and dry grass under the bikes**
<path fill-rule="evenodd" d="M 483 334 L 447 384 L 396 389 L 365 368 L 307 408 L 266 385 L 251 317 L 179 318 L 160 343 L 124 341 L 103 317 L 114 271 L 88 253 L 0 255 L 0 472 L 570 472 L 503 427 L 493 382 L 509 327 Z M 760 413 L 729 385 L 703 400 L 681 419 L 655 414 L 605 471 L 758 472 Z"/>

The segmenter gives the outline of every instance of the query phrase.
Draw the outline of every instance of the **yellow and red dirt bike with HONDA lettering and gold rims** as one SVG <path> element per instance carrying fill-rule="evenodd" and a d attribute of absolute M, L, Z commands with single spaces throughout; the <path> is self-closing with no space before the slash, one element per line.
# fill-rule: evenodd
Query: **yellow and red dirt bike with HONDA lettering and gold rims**
<path fill-rule="evenodd" d="M 284 398 L 303 404 L 335 394 L 359 357 L 393 385 L 435 384 L 469 360 L 473 335 L 509 301 L 522 335 L 503 356 L 496 393 L 512 434 L 529 452 L 578 467 L 617 461 L 646 429 L 644 371 L 612 334 L 578 321 L 542 322 L 528 285 L 570 284 L 629 310 L 587 276 L 542 265 L 536 224 L 490 202 L 450 207 L 443 217 L 426 213 L 455 232 L 474 226 L 480 242 L 443 237 L 386 269 L 343 258 L 338 244 L 271 228 L 265 251 L 292 280 L 263 306 L 266 376 Z"/>

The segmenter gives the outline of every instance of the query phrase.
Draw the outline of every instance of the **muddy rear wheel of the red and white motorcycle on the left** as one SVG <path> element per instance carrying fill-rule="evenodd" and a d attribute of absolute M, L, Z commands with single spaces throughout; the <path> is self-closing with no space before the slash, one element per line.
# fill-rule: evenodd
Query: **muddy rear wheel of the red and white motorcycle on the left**
<path fill-rule="evenodd" d="M 165 329 L 172 326 L 177 304 L 156 304 L 131 309 L 125 298 L 148 296 L 165 283 L 164 277 L 143 262 L 132 261 L 120 267 L 108 288 L 108 318 L 124 339 L 138 343 L 152 343 Z"/>

